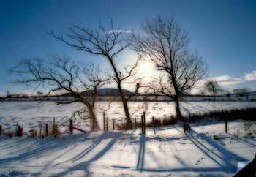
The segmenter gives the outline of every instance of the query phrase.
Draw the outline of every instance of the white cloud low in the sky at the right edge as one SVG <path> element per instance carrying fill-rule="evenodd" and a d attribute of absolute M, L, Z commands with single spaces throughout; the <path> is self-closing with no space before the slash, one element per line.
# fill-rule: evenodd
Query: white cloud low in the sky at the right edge
<path fill-rule="evenodd" d="M 215 78 L 211 78 L 211 80 L 217 81 L 219 85 L 222 85 L 222 86 L 235 85 L 238 83 L 244 83 L 246 81 L 256 80 L 256 70 L 246 73 L 241 78 L 233 78 L 230 75 L 220 75 Z"/>

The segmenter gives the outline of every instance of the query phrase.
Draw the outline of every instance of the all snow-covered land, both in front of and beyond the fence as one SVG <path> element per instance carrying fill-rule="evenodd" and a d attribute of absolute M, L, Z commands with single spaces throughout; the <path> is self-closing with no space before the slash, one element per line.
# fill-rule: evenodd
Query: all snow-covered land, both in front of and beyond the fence
<path fill-rule="evenodd" d="M 138 110 L 143 102 L 130 102 Z M 54 105 L 54 102 L 1 102 L 0 124 L 24 129 L 38 124 L 67 121 L 82 105 Z M 185 113 L 256 107 L 256 102 L 182 102 Z M 97 103 L 102 126 L 105 102 Z M 133 114 L 140 118 L 164 118 L 173 114 L 173 102 L 148 102 Z M 115 102 L 106 116 L 123 121 L 121 103 Z M 78 121 L 75 121 L 78 126 Z M 229 121 L 228 134 L 223 121 L 211 118 L 192 123 L 190 134 L 182 123 L 175 126 L 141 130 L 102 130 L 61 138 L 7 138 L 0 136 L 0 176 L 233 176 L 238 162 L 252 161 L 256 140 L 246 136 L 245 121 Z M 89 129 L 81 125 L 81 129 Z M 256 121 L 249 130 L 256 132 Z M 219 140 L 214 139 L 214 135 Z M 255 134 L 254 134 L 255 135 Z"/>

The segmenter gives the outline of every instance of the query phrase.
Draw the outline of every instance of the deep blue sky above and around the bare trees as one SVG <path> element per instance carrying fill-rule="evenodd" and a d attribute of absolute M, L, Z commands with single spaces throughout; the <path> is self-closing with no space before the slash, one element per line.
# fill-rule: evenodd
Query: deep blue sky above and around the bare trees
<path fill-rule="evenodd" d="M 256 91 L 255 0 L 0 0 L 0 94 L 29 90 L 8 83 L 13 76 L 7 69 L 17 59 L 65 52 L 73 59 L 108 67 L 104 59 L 69 48 L 48 31 L 64 34 L 72 23 L 97 28 L 110 15 L 116 27 L 140 32 L 143 19 L 156 13 L 173 16 L 189 32 L 190 47 L 209 64 L 208 79 L 218 80 L 225 89 L 251 87 Z"/>

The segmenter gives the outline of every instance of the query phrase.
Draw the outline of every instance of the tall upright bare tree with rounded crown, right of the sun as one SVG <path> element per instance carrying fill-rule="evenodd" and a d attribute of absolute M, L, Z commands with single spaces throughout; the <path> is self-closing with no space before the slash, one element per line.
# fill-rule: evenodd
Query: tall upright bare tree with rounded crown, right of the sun
<path fill-rule="evenodd" d="M 132 34 L 130 43 L 133 50 L 148 56 L 154 62 L 159 78 L 149 85 L 154 94 L 165 95 L 176 102 L 177 118 L 182 119 L 179 99 L 198 80 L 206 77 L 208 66 L 199 53 L 189 52 L 189 39 L 186 31 L 169 18 L 156 15 L 146 18 L 142 25 L 144 36 Z"/>

